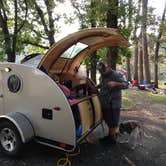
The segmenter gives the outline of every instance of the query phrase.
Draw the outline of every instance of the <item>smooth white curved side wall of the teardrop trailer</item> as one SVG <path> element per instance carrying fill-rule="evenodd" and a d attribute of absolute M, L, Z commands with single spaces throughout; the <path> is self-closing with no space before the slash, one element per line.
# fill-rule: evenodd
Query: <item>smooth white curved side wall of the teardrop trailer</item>
<path fill-rule="evenodd" d="M 4 69 L 8 66 L 11 71 L 5 72 Z M 23 113 L 30 119 L 35 136 L 74 146 L 76 138 L 73 115 L 69 102 L 59 86 L 36 68 L 7 63 L 0 64 L 0 70 L 2 78 L 0 92 L 3 95 L 0 98 L 3 107 L 0 114 Z M 13 75 L 21 81 L 19 91 L 14 93 L 8 86 L 8 80 Z M 52 115 L 42 118 L 44 109 L 48 110 L 48 114 L 49 110 L 52 110 L 50 113 Z"/>

